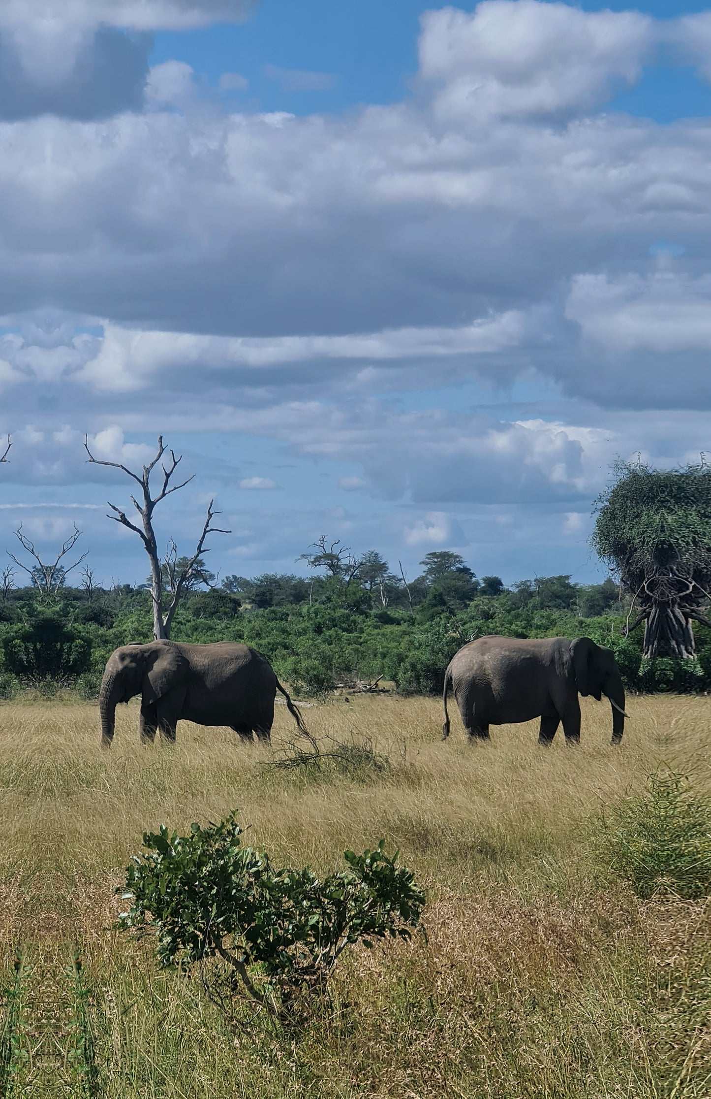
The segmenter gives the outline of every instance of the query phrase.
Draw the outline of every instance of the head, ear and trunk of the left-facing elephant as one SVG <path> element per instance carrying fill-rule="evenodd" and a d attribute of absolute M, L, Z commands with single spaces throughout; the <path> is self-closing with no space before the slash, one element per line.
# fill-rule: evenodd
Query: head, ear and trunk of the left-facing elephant
<path fill-rule="evenodd" d="M 153 641 L 146 645 L 124 645 L 107 662 L 99 693 L 101 743 L 111 747 L 119 702 L 136 695 L 149 706 L 175 687 L 187 670 L 188 662 L 177 645 Z"/>

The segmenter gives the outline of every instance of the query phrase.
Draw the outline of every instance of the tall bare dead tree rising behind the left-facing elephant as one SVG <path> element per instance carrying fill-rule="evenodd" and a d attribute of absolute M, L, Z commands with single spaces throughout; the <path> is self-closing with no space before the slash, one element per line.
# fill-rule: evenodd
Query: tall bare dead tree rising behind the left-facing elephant
<path fill-rule="evenodd" d="M 208 514 L 202 528 L 202 533 L 198 539 L 198 545 L 196 552 L 191 557 L 186 559 L 185 565 L 179 571 L 175 571 L 173 575 L 170 588 L 171 588 L 171 600 L 167 608 L 163 604 L 163 565 L 160 556 L 158 554 L 158 546 L 156 542 L 155 531 L 153 529 L 153 512 L 156 506 L 165 500 L 167 496 L 171 492 L 177 492 L 178 489 L 185 488 L 192 477 L 186 478 L 186 480 L 180 481 L 179 485 L 170 485 L 170 478 L 175 474 L 178 463 L 181 460 L 181 455 L 176 458 L 173 451 L 168 452 L 170 454 L 170 460 L 165 465 L 160 462 L 163 455 L 166 453 L 166 447 L 163 445 L 163 435 L 158 435 L 158 449 L 155 458 L 148 463 L 147 466 L 143 466 L 143 471 L 141 475 L 129 469 L 127 466 L 122 465 L 120 462 L 104 462 L 100 458 L 95 458 L 91 451 L 89 449 L 89 436 L 87 435 L 84 441 L 84 447 L 88 454 L 87 462 L 92 463 L 97 466 L 111 466 L 114 469 L 121 469 L 127 477 L 132 477 L 141 486 L 141 495 L 143 497 L 143 503 L 138 503 L 135 497 L 131 497 L 131 502 L 138 512 L 141 517 L 141 526 L 132 523 L 124 511 L 118 508 L 115 503 L 109 501 L 109 507 L 114 512 L 113 515 L 108 515 L 108 519 L 112 519 L 116 523 L 121 523 L 122 526 L 126 526 L 130 531 L 134 531 L 143 542 L 143 547 L 148 555 L 148 560 L 151 562 L 151 598 L 153 600 L 153 633 L 156 640 L 162 637 L 168 639 L 170 636 L 170 626 L 173 624 L 173 619 L 177 610 L 178 603 L 181 596 L 184 595 L 189 581 L 193 578 L 195 566 L 199 557 L 209 551 L 204 547 L 204 542 L 208 534 L 231 534 L 231 531 L 225 531 L 220 526 L 212 526 L 212 520 L 215 515 L 219 515 L 219 511 L 214 511 L 212 504 L 214 500 L 210 500 L 208 504 Z M 163 485 L 157 496 L 153 497 L 151 495 L 151 474 L 155 467 L 160 463 L 160 469 L 163 471 Z M 143 528 L 143 529 L 142 529 Z M 175 548 L 175 543 L 171 541 L 170 545 Z M 171 550 L 168 548 L 168 554 L 166 557 L 166 564 L 168 566 L 168 571 L 170 569 L 170 563 L 174 564 L 177 560 L 177 551 L 175 557 L 171 557 Z"/>

